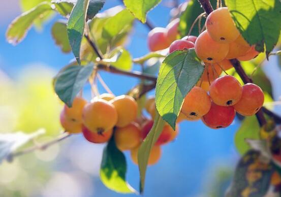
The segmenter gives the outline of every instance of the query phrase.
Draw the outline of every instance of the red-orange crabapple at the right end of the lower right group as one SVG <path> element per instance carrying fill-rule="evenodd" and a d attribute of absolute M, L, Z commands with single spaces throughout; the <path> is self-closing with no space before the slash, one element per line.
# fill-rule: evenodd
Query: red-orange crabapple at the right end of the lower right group
<path fill-rule="evenodd" d="M 237 113 L 243 116 L 252 116 L 261 109 L 263 102 L 262 89 L 256 84 L 247 83 L 242 86 L 242 96 L 233 107 Z"/>

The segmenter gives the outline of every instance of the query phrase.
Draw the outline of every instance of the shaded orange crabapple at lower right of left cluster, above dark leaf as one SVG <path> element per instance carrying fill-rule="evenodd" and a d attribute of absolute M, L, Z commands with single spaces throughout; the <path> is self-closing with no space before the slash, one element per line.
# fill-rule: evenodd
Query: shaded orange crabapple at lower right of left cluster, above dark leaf
<path fill-rule="evenodd" d="M 141 130 L 137 123 L 131 122 L 125 127 L 116 128 L 114 140 L 119 150 L 131 150 L 140 144 Z"/>

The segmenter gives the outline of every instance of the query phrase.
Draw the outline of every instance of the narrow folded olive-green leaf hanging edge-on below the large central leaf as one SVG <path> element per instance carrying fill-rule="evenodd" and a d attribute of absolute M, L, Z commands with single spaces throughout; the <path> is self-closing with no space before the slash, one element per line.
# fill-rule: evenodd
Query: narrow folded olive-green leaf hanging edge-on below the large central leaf
<path fill-rule="evenodd" d="M 150 151 L 159 138 L 163 127 L 165 125 L 165 121 L 161 118 L 157 110 L 155 110 L 155 119 L 153 126 L 142 142 L 139 151 L 138 151 L 138 164 L 139 164 L 139 171 L 140 171 L 140 192 L 143 192 L 144 189 L 144 181 L 145 181 L 145 174 L 146 168 L 148 163 L 148 158 L 150 155 Z"/>

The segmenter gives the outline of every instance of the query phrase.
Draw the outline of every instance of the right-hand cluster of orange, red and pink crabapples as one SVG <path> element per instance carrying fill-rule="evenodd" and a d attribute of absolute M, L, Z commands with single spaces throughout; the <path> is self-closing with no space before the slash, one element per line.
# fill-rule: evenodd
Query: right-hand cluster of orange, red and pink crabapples
<path fill-rule="evenodd" d="M 262 89 L 252 83 L 241 86 L 233 76 L 221 76 L 233 67 L 230 59 L 247 61 L 259 54 L 240 35 L 228 8 L 211 12 L 206 19 L 206 30 L 198 37 L 176 40 L 178 25 L 179 19 L 175 19 L 166 28 L 152 29 L 148 47 L 151 51 L 169 47 L 169 53 L 195 48 L 205 64 L 201 79 L 184 98 L 179 119 L 202 119 L 211 128 L 222 128 L 232 123 L 236 112 L 243 116 L 256 114 L 264 102 Z"/>

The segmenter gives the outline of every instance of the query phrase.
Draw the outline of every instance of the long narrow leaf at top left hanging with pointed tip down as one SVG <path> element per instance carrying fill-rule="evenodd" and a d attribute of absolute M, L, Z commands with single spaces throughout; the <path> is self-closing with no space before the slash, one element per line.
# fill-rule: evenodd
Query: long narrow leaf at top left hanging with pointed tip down
<path fill-rule="evenodd" d="M 80 48 L 84 36 L 89 0 L 77 0 L 67 23 L 68 39 L 72 52 L 80 64 Z"/>

